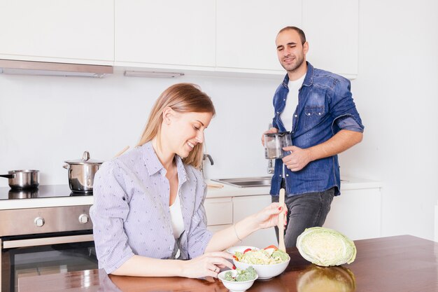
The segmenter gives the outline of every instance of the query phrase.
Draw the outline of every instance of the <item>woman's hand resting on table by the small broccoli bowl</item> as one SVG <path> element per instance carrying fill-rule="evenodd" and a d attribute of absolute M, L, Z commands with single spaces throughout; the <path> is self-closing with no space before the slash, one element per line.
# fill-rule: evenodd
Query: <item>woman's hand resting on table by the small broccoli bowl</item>
<path fill-rule="evenodd" d="M 192 258 L 191 260 L 183 261 L 183 277 L 199 278 L 199 277 L 218 277 L 218 273 L 222 267 L 235 269 L 234 265 L 229 262 L 233 259 L 232 254 L 225 251 L 214 251 L 204 253 L 202 256 Z"/>

